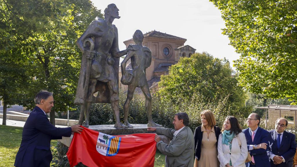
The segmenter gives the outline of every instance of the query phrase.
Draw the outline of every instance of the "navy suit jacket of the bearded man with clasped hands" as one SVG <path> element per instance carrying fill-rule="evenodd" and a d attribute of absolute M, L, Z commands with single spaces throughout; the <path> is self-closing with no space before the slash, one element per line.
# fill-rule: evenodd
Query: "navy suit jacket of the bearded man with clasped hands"
<path fill-rule="evenodd" d="M 275 135 L 275 130 L 269 131 L 271 138 L 269 141 L 269 147 L 271 150 L 267 151 L 268 157 L 272 154 L 282 156 L 285 159 L 285 162 L 282 162 L 278 165 L 275 165 L 272 160 L 270 160 L 271 167 L 286 167 L 293 166 L 293 157 L 296 152 L 296 140 L 293 133 L 284 131 L 282 135 L 282 141 L 280 147 L 277 148 L 277 138 Z"/>

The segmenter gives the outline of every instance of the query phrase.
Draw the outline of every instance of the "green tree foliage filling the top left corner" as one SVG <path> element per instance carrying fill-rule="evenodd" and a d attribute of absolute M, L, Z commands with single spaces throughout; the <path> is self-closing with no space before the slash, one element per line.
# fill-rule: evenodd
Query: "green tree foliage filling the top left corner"
<path fill-rule="evenodd" d="M 50 53 L 47 49 L 54 49 L 55 43 L 52 43 L 51 48 L 48 45 L 53 42 L 51 39 L 59 39 L 66 34 L 65 30 L 72 20 L 73 7 L 64 2 L 64 0 L 0 1 L 0 35 L 3 36 L 0 39 L 2 46 L 0 59 L 7 63 L 27 64 L 29 69 L 36 67 L 34 59 L 39 59 L 40 62 L 43 61 L 42 66 L 45 68 L 45 75 L 48 76 L 47 64 L 50 62 Z M 46 54 L 43 60 L 40 56 L 42 53 Z M 26 68 L 26 71 L 30 71 L 29 69 Z M 36 76 L 35 73 L 31 75 Z M 46 86 L 47 82 L 44 83 Z M 36 93 L 37 89 L 27 87 L 26 91 Z"/>

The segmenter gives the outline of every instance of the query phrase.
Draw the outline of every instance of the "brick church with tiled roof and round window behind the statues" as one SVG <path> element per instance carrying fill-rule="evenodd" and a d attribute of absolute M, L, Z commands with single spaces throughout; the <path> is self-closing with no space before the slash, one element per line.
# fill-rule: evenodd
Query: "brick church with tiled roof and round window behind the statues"
<path fill-rule="evenodd" d="M 148 47 L 152 53 L 151 66 L 146 69 L 146 79 L 150 89 L 157 89 L 161 75 L 168 74 L 168 68 L 176 64 L 180 57 L 190 57 L 196 49 L 184 45 L 187 39 L 176 37 L 159 31 L 150 31 L 143 34 L 142 45 Z M 129 44 L 135 44 L 133 39 L 124 41 L 126 48 Z M 131 61 L 127 62 L 126 69 L 131 69 Z M 121 65 L 119 67 L 119 79 L 121 79 Z M 119 82 L 119 88 L 127 90 L 127 85 Z"/>

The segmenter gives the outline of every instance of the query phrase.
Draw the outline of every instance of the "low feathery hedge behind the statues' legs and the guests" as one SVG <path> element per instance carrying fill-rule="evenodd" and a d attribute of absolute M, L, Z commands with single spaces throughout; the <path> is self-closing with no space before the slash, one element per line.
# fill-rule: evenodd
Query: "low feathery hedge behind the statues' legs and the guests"
<path fill-rule="evenodd" d="M 123 105 L 127 94 L 120 92 L 120 118 L 123 122 Z M 201 125 L 200 113 L 210 109 L 214 112 L 217 125 L 222 126 L 225 117 L 230 115 L 230 104 L 227 103 L 228 97 L 219 100 L 219 103 L 205 101 L 199 95 L 193 95 L 192 99 L 176 103 L 172 100 L 164 99 L 158 94 L 152 96 L 152 117 L 154 122 L 164 127 L 173 128 L 173 118 L 178 112 L 186 112 L 190 118 L 190 128 L 194 131 Z M 131 124 L 147 124 L 148 119 L 145 110 L 145 98 L 142 94 L 135 94 L 130 103 L 128 121 Z M 245 112 L 245 111 L 244 111 Z M 110 104 L 97 103 L 92 105 L 90 113 L 90 125 L 109 125 L 114 124 L 113 113 Z"/>

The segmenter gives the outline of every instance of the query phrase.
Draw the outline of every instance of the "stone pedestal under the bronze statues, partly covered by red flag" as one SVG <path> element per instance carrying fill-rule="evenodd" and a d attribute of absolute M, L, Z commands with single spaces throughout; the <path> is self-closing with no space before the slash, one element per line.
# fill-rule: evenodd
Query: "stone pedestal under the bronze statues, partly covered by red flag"
<path fill-rule="evenodd" d="M 91 125 L 89 126 L 89 129 L 96 130 L 101 133 L 105 133 L 108 135 L 126 135 L 126 134 L 133 134 L 133 133 L 155 133 L 155 132 L 149 132 L 147 131 L 147 125 L 146 124 L 131 124 L 133 128 L 115 128 L 114 125 Z M 159 135 L 161 140 L 164 143 L 169 144 L 170 138 Z M 61 141 L 64 145 L 67 147 L 70 146 L 70 143 L 72 141 L 73 135 L 70 137 L 62 137 L 62 139 L 58 140 Z"/>

